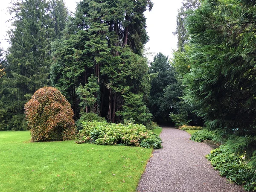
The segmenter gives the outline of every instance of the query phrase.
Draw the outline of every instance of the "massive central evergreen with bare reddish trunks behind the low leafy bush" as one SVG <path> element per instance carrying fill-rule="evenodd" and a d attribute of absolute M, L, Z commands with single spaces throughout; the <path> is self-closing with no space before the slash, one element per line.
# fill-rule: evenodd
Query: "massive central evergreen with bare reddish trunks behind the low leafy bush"
<path fill-rule="evenodd" d="M 64 38 L 53 46 L 51 80 L 69 99 L 79 117 L 77 87 L 87 86 L 91 75 L 100 91 L 91 93 L 101 116 L 115 122 L 128 93 L 143 93 L 147 61 L 142 56 L 148 41 L 143 12 L 151 1 L 82 0 L 70 18 Z"/>

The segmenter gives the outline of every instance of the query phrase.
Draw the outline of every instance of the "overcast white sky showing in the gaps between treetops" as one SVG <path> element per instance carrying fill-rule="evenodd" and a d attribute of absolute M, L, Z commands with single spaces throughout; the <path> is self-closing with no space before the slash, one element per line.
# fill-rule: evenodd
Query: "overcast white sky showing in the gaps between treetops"
<path fill-rule="evenodd" d="M 76 2 L 79 0 L 64 0 L 67 8 L 75 12 Z M 6 21 L 10 18 L 7 13 L 7 7 L 10 6 L 11 0 L 1 0 L 0 6 L 0 41 L 1 47 L 4 50 L 7 49 L 9 44 L 5 40 L 6 31 L 9 29 L 10 24 Z M 176 28 L 176 15 L 178 9 L 181 7 L 182 0 L 152 0 L 154 3 L 151 12 L 145 12 L 147 18 L 147 32 L 150 38 L 149 42 L 145 45 L 145 48 L 149 48 L 148 52 L 152 52 L 151 56 L 148 56 L 150 60 L 153 60 L 153 55 L 158 52 L 162 52 L 164 55 L 171 56 L 172 50 L 177 48 L 177 37 L 172 35 L 172 32 Z"/>

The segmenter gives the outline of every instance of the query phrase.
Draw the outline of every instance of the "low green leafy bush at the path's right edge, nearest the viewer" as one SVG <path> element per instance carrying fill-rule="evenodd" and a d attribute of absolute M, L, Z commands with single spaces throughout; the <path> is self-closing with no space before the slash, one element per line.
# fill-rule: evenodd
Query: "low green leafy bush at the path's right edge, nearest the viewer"
<path fill-rule="evenodd" d="M 212 150 L 206 158 L 220 172 L 221 176 L 226 176 L 227 179 L 238 185 L 244 185 L 244 189 L 247 191 L 256 191 L 255 172 L 243 160 L 242 156 L 233 154 L 226 145 Z"/>

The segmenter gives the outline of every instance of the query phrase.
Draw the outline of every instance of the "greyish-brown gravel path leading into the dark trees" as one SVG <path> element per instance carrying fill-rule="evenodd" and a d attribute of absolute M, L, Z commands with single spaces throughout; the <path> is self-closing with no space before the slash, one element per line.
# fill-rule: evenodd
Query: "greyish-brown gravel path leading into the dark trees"
<path fill-rule="evenodd" d="M 138 192 L 243 192 L 215 171 L 206 154 L 207 144 L 189 140 L 186 131 L 164 127 L 163 149 L 154 150 L 137 188 Z"/>

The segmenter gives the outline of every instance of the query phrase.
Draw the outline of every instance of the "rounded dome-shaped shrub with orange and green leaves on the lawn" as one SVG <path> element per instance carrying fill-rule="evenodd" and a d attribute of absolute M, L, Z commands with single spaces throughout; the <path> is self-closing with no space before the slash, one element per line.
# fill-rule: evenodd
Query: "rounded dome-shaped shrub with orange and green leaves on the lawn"
<path fill-rule="evenodd" d="M 76 134 L 70 103 L 54 87 L 37 90 L 25 104 L 31 141 L 72 140 Z"/>

